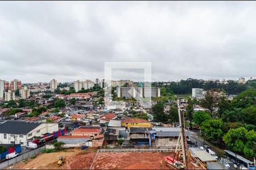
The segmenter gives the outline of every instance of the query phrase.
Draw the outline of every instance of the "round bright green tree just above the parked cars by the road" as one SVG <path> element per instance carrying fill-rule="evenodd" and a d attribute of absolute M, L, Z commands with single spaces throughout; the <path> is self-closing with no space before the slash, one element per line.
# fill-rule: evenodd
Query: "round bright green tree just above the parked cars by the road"
<path fill-rule="evenodd" d="M 223 135 L 222 127 L 224 126 L 221 119 L 209 119 L 203 122 L 201 132 L 208 141 L 217 141 L 221 143 Z"/>

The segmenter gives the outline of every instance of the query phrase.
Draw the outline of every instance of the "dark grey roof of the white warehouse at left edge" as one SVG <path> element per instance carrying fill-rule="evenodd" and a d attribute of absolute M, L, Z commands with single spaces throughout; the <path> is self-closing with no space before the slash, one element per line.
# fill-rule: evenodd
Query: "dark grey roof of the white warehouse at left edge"
<path fill-rule="evenodd" d="M 0 133 L 27 134 L 42 123 L 26 121 L 1 121 Z"/>

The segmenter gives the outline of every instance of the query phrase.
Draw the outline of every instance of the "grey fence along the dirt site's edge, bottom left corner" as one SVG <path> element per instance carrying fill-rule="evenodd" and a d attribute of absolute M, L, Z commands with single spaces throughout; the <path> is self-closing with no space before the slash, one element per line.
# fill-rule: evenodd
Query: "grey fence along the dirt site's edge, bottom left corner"
<path fill-rule="evenodd" d="M 17 156 L 16 158 L 10 159 L 10 160 L 6 160 L 5 162 L 0 164 L 0 169 L 9 167 L 10 165 L 13 165 L 15 163 L 18 163 L 24 159 L 28 159 L 31 158 L 31 156 L 39 154 L 40 152 L 42 152 L 42 150 L 46 149 L 46 146 L 42 146 L 39 148 L 36 148 L 35 150 L 31 150 L 29 152 L 26 152 L 22 155 Z"/>

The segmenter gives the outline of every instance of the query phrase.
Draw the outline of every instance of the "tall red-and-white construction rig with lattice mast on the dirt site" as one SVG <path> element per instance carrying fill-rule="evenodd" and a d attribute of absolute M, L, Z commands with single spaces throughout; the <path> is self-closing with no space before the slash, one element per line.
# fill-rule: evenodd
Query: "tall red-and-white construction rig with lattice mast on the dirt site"
<path fill-rule="evenodd" d="M 180 100 L 177 100 L 177 108 L 179 113 L 179 121 L 180 121 L 180 134 L 177 141 L 176 149 L 174 158 L 171 156 L 166 157 L 166 162 L 175 169 L 188 169 L 188 145 L 187 145 L 187 138 L 185 134 L 185 116 L 184 116 L 184 107 L 180 106 Z M 182 156 L 180 155 L 180 147 L 182 150 Z M 177 155 L 177 159 L 175 159 Z M 179 162 L 179 159 L 183 159 L 183 163 Z"/>

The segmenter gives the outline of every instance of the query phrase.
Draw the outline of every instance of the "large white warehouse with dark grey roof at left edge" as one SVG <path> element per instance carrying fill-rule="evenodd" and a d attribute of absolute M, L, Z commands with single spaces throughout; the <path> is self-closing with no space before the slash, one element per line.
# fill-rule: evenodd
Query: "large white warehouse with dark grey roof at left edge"
<path fill-rule="evenodd" d="M 0 143 L 26 146 L 34 137 L 58 130 L 58 124 L 0 120 Z"/>

